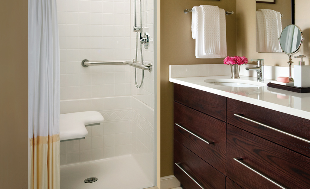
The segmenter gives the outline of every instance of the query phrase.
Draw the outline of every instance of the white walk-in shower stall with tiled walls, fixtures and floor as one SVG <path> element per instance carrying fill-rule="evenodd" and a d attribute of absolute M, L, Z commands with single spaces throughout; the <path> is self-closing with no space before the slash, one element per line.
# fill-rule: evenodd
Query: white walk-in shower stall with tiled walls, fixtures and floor
<path fill-rule="evenodd" d="M 61 189 L 155 186 L 154 2 L 58 0 L 57 9 L 60 113 L 104 117 L 85 139 L 60 143 Z"/>

